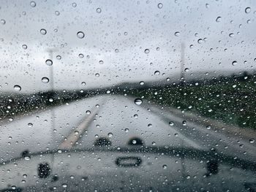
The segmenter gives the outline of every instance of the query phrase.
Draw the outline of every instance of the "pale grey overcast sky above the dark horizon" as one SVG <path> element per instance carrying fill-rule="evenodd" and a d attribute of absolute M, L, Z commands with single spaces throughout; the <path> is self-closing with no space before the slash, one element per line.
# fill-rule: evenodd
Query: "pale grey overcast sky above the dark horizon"
<path fill-rule="evenodd" d="M 253 0 L 34 2 L 1 1 L 1 92 L 14 85 L 29 93 L 49 89 L 50 82 L 72 89 L 177 77 L 181 42 L 187 76 L 255 69 Z M 45 64 L 50 49 L 52 66 Z"/>

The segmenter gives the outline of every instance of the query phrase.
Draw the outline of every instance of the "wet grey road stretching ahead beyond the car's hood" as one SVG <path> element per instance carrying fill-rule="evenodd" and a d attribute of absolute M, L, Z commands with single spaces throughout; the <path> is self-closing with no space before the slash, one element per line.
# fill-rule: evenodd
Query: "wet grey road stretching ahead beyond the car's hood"
<path fill-rule="evenodd" d="M 17 158 L 29 150 L 93 147 L 105 137 L 113 146 L 125 147 L 138 138 L 147 146 L 192 147 L 255 161 L 255 143 L 225 135 L 176 112 L 166 112 L 147 101 L 137 105 L 125 96 L 95 96 L 54 107 L 10 123 L 1 124 L 0 159 Z"/>

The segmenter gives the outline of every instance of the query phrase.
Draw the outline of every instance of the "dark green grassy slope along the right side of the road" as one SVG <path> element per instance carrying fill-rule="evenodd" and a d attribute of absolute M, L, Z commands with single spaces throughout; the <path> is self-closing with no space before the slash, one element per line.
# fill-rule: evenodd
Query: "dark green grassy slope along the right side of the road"
<path fill-rule="evenodd" d="M 255 90 L 256 80 L 251 79 L 133 89 L 128 94 L 256 130 Z"/>

